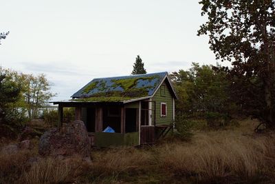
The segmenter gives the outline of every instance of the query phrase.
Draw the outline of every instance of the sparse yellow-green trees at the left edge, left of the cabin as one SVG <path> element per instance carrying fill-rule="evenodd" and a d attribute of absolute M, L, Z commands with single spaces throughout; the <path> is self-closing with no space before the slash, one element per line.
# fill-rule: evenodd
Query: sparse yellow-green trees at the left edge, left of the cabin
<path fill-rule="evenodd" d="M 33 74 L 23 74 L 3 68 L 0 68 L 0 72 L 5 75 L 6 85 L 10 86 L 10 94 L 7 95 L 13 96 L 13 100 L 10 102 L 5 96 L 1 100 L 2 103 L 11 108 L 10 112 L 13 115 L 10 117 L 21 116 L 23 119 L 26 112 L 28 112 L 29 119 L 37 118 L 39 108 L 46 105 L 47 101 L 55 95 L 50 92 L 50 83 L 45 78 L 45 74 L 34 76 Z M 17 88 L 20 88 L 20 91 L 17 92 Z M 11 94 L 12 90 L 14 94 Z M 6 90 L 1 90 L 1 92 L 6 92 Z"/>

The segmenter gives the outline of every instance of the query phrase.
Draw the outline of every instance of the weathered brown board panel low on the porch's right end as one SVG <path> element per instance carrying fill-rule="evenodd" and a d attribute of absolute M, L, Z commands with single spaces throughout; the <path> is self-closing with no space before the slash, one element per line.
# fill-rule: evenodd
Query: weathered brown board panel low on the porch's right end
<path fill-rule="evenodd" d="M 140 127 L 140 144 L 155 143 L 155 126 Z"/>

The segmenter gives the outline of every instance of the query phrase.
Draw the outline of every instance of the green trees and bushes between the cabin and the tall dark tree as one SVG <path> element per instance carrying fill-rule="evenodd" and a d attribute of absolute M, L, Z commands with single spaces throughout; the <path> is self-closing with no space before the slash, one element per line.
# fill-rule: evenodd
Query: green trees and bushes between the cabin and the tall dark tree
<path fill-rule="evenodd" d="M 236 114 L 238 106 L 231 100 L 230 81 L 217 68 L 221 66 L 192 63 L 189 70 L 170 74 L 178 96 L 178 116 L 186 116 L 186 121 L 206 119 L 210 127 L 219 127 L 227 125 L 230 116 Z"/>

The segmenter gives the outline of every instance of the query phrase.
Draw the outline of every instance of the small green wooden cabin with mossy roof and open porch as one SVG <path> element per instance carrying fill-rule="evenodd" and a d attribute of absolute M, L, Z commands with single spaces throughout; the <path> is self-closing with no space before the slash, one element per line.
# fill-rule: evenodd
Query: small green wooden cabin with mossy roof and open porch
<path fill-rule="evenodd" d="M 58 104 L 58 126 L 63 108 L 74 107 L 76 120 L 87 127 L 91 144 L 142 145 L 173 130 L 177 95 L 167 72 L 94 79 Z M 107 127 L 113 133 L 104 132 Z"/>

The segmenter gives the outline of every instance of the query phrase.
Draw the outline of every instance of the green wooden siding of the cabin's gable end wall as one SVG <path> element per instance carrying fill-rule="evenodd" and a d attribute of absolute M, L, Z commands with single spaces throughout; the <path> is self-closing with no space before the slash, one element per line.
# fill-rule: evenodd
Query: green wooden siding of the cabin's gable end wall
<path fill-rule="evenodd" d="M 155 93 L 155 95 L 153 96 L 153 101 L 155 101 L 155 105 L 156 105 L 155 120 L 156 120 L 156 125 L 170 125 L 170 123 L 173 122 L 173 96 L 167 87 L 167 81 L 164 81 L 162 85 L 164 85 L 164 88 L 165 88 L 165 96 L 161 95 L 161 92 L 160 92 L 161 88 L 159 88 Z M 162 117 L 160 115 L 160 108 L 161 108 L 160 103 L 166 103 L 167 114 L 165 117 Z M 153 115 L 154 114 L 152 114 L 152 116 Z"/>

